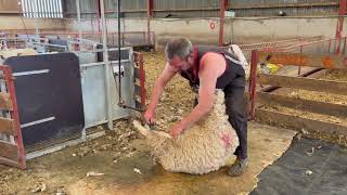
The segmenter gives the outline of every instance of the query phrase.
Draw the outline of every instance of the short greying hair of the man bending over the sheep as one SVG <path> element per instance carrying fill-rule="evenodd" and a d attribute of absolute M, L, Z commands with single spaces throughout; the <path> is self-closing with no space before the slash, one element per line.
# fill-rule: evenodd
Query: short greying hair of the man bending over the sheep
<path fill-rule="evenodd" d="M 172 60 L 175 55 L 181 60 L 187 60 L 188 56 L 193 52 L 192 42 L 184 37 L 171 39 L 165 48 L 166 57 Z"/>

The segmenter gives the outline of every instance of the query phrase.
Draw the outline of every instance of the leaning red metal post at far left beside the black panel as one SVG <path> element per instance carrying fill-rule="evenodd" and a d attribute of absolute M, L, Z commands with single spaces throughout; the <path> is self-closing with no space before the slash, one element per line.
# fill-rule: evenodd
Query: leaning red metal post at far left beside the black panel
<path fill-rule="evenodd" d="M 18 156 L 20 156 L 20 166 L 22 169 L 26 168 L 26 158 L 25 158 L 25 151 L 23 145 L 23 138 L 22 138 L 22 130 L 21 130 L 21 123 L 20 123 L 20 115 L 18 115 L 18 106 L 15 95 L 15 89 L 14 89 L 14 78 L 12 77 L 12 72 L 9 66 L 1 66 L 1 69 L 3 70 L 3 75 L 5 78 L 8 91 L 11 96 L 13 110 L 11 112 L 11 117 L 14 119 L 15 122 L 15 129 L 16 129 L 16 144 L 18 148 Z"/>

